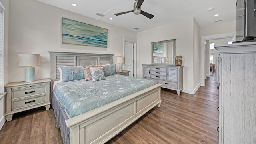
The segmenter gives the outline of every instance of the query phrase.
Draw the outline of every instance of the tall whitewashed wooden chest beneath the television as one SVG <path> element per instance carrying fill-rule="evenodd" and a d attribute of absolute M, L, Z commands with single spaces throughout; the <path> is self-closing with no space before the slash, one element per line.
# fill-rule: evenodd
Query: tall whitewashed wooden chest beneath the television
<path fill-rule="evenodd" d="M 219 144 L 256 144 L 256 42 L 214 47 L 220 54 Z"/>

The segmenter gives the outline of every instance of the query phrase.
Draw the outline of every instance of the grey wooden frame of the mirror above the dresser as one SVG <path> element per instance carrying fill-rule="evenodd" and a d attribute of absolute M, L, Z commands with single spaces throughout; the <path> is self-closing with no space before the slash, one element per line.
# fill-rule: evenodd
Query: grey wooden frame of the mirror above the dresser
<path fill-rule="evenodd" d="M 175 41 L 176 41 L 176 39 L 163 40 L 163 41 L 159 41 L 159 42 L 151 42 L 151 64 L 175 65 Z M 173 63 L 172 64 L 168 64 L 168 63 L 154 63 L 154 61 L 153 61 L 154 44 L 164 44 L 164 43 L 169 43 L 169 42 L 173 42 L 173 56 L 172 56 Z"/>

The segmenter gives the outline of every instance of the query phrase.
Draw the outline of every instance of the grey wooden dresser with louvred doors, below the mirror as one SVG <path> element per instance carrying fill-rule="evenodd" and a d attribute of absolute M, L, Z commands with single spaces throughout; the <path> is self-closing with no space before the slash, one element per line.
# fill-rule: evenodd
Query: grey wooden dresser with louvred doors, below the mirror
<path fill-rule="evenodd" d="M 183 66 L 142 64 L 143 78 L 163 84 L 162 88 L 176 90 L 179 95 L 183 90 Z"/>

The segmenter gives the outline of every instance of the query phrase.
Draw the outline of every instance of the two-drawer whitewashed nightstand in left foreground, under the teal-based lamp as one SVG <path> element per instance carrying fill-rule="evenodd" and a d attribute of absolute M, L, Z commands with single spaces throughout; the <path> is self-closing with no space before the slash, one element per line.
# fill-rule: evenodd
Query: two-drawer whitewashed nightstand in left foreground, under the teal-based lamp
<path fill-rule="evenodd" d="M 11 82 L 5 85 L 6 120 L 12 120 L 13 114 L 45 106 L 50 108 L 51 79 L 35 80 L 34 82 Z"/>

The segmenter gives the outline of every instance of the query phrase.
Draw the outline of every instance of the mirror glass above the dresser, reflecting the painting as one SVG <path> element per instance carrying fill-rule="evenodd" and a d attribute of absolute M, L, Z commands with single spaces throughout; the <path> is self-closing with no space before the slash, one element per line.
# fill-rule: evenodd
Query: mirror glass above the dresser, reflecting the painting
<path fill-rule="evenodd" d="M 151 42 L 152 62 L 151 64 L 175 64 L 175 40 L 164 40 Z"/>

